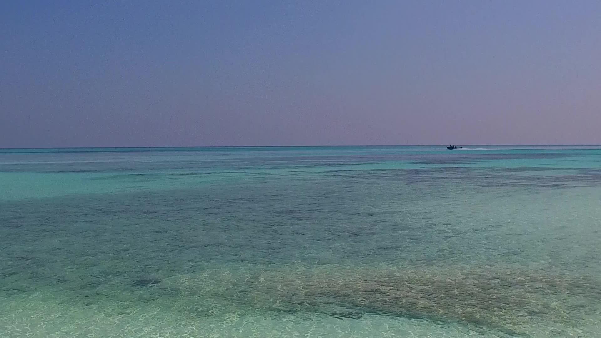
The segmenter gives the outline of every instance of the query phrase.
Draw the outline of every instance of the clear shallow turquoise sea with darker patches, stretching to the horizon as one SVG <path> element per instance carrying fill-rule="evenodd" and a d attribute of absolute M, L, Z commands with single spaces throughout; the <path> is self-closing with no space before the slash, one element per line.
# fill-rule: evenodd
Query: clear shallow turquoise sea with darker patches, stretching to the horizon
<path fill-rule="evenodd" d="M 597 337 L 601 147 L 0 149 L 0 337 Z"/>

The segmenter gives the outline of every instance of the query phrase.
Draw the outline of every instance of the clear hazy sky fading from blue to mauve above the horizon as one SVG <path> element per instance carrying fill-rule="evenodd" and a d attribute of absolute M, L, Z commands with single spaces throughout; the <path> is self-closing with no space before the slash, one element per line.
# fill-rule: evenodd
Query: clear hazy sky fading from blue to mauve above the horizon
<path fill-rule="evenodd" d="M 600 1 L 0 2 L 0 147 L 600 144 Z"/>

